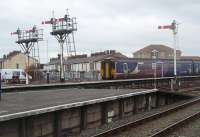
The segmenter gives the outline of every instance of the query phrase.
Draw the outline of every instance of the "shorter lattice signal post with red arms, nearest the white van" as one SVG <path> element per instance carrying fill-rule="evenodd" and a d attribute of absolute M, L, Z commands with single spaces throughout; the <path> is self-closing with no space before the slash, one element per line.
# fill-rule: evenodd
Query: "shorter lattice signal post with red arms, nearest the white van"
<path fill-rule="evenodd" d="M 43 40 L 43 29 L 37 29 L 36 26 L 33 26 L 30 30 L 21 30 L 17 29 L 16 32 L 12 32 L 11 35 L 17 35 L 16 43 L 20 45 L 21 49 L 25 53 L 26 59 L 26 84 L 29 84 L 29 57 L 32 48 L 35 43 Z"/>

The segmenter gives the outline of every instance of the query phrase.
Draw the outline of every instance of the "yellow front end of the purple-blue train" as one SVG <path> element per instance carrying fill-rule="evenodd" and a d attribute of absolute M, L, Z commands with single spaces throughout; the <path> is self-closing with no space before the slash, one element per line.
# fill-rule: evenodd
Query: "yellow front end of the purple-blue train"
<path fill-rule="evenodd" d="M 115 62 L 104 60 L 101 62 L 100 75 L 103 80 L 110 80 L 114 77 Z"/>

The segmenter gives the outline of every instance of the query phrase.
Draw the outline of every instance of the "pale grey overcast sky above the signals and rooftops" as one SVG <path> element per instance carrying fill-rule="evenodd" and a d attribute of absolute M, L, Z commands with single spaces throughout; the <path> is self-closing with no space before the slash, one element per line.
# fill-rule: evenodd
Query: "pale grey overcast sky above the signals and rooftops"
<path fill-rule="evenodd" d="M 158 25 L 179 25 L 179 49 L 184 55 L 200 56 L 200 1 L 199 0 L 1 0 L 0 57 L 19 50 L 16 37 L 10 32 L 18 27 L 44 29 L 45 41 L 40 42 L 40 57 L 47 61 L 59 53 L 56 39 L 49 34 L 50 26 L 43 20 L 62 17 L 66 9 L 77 17 L 75 33 L 78 53 L 115 49 L 131 57 L 132 52 L 149 44 L 172 46 L 170 30 L 158 30 Z"/>

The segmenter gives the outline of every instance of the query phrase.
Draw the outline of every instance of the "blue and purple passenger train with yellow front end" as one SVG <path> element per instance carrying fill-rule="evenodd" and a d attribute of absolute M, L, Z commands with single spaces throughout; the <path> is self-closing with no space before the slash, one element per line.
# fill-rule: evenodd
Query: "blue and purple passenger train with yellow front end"
<path fill-rule="evenodd" d="M 177 76 L 200 74 L 200 60 L 177 60 Z M 100 65 L 102 80 L 174 76 L 173 59 L 104 59 Z"/>

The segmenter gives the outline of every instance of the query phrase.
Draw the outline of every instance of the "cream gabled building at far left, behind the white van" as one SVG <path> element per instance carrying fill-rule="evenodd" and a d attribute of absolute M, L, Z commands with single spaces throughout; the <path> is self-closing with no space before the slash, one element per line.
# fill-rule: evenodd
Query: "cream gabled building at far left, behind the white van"
<path fill-rule="evenodd" d="M 8 55 L 4 55 L 0 59 L 0 68 L 1 69 L 26 69 L 26 59 L 27 56 L 21 51 L 13 51 Z M 32 57 L 29 57 L 29 66 L 33 66 L 38 61 Z"/>

